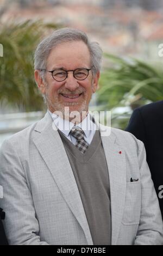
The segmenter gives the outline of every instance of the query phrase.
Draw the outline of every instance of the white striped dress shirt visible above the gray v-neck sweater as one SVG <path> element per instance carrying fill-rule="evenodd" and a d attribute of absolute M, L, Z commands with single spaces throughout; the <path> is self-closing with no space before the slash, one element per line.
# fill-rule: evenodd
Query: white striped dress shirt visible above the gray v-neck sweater
<path fill-rule="evenodd" d="M 60 118 L 57 114 L 53 114 L 51 111 L 49 111 L 49 114 L 51 115 L 55 126 L 57 126 L 57 128 L 65 135 L 65 137 L 69 139 L 69 141 L 71 141 L 74 145 L 76 145 L 77 139 L 74 138 L 70 133 L 73 126 L 80 127 L 84 131 L 85 141 L 89 145 L 91 144 L 93 136 L 96 132 L 96 125 L 91 120 L 89 113 L 87 114 L 86 118 L 78 125 L 74 125 L 74 123 L 71 121 Z"/>

